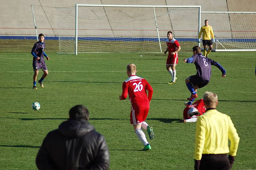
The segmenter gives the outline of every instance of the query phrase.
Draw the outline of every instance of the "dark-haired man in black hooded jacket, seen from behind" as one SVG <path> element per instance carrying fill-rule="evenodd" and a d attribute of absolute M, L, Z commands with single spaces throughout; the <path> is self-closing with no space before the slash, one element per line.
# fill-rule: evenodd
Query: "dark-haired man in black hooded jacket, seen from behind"
<path fill-rule="evenodd" d="M 109 152 L 103 135 L 87 121 L 89 111 L 76 105 L 69 111 L 69 120 L 49 132 L 38 154 L 36 166 L 41 169 L 108 169 Z"/>

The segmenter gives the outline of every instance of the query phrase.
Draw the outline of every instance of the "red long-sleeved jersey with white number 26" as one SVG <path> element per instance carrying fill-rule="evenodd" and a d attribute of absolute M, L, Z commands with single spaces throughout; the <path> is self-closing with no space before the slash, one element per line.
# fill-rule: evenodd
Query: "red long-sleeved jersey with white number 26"
<path fill-rule="evenodd" d="M 123 82 L 122 100 L 126 99 L 127 94 L 129 94 L 133 109 L 140 107 L 149 108 L 149 101 L 151 101 L 153 89 L 147 80 L 136 75 L 131 75 Z"/>

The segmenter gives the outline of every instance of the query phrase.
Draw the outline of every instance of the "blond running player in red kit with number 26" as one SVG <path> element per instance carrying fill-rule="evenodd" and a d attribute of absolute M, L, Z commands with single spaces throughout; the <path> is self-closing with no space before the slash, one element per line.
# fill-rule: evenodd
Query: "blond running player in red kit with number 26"
<path fill-rule="evenodd" d="M 129 78 L 123 83 L 123 93 L 119 96 L 119 99 L 124 100 L 126 99 L 127 94 L 129 94 L 131 102 L 130 122 L 133 125 L 135 134 L 144 144 L 143 151 L 147 151 L 150 150 L 151 147 L 142 129 L 147 130 L 151 140 L 154 138 L 152 126 L 148 126 L 145 122 L 148 116 L 149 103 L 152 98 L 153 89 L 147 80 L 138 77 L 135 74 L 136 66 L 133 63 L 129 64 L 127 66 L 127 75 Z"/>

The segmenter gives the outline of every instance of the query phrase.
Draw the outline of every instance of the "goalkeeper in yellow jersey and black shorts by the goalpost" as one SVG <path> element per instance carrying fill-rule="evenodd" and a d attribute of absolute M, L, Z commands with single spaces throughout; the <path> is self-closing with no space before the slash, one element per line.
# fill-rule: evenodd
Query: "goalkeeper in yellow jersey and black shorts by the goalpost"
<path fill-rule="evenodd" d="M 215 42 L 215 39 L 212 31 L 212 26 L 208 25 L 207 19 L 204 21 L 204 24 L 205 25 L 201 27 L 200 33 L 198 35 L 198 43 L 200 43 L 200 37 L 201 37 L 201 34 L 203 33 L 202 38 L 203 38 L 203 45 L 204 45 L 204 56 L 208 57 L 212 50 L 212 43 Z M 212 40 L 211 40 L 211 36 L 212 36 Z M 207 45 L 208 45 L 208 50 L 206 52 Z"/>

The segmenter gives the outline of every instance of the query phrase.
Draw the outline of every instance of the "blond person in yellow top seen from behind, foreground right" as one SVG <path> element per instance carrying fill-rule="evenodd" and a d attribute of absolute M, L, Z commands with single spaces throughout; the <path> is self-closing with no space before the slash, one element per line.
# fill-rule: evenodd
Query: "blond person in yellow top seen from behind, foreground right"
<path fill-rule="evenodd" d="M 196 123 L 195 169 L 227 170 L 235 161 L 240 138 L 230 117 L 216 110 L 217 104 L 217 95 L 205 92 L 206 112 Z"/>

